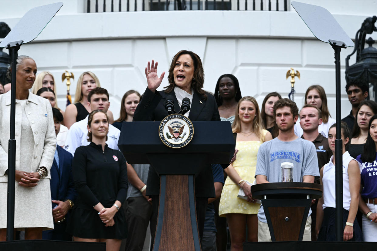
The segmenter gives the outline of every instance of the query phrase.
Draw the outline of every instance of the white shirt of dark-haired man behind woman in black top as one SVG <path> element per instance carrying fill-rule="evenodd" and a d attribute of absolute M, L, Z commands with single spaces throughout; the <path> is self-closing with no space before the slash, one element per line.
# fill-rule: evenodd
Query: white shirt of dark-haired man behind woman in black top
<path fill-rule="evenodd" d="M 88 138 L 88 116 L 85 119 L 80 120 L 74 123 L 68 131 L 66 142 L 64 149 L 70 152 L 72 155 L 75 154 L 76 148 L 79 146 L 87 146 L 89 145 Z M 106 144 L 109 148 L 119 150 L 118 148 L 118 139 L 119 139 L 120 131 L 118 128 L 109 124 L 109 132 L 107 133 L 107 141 Z"/>

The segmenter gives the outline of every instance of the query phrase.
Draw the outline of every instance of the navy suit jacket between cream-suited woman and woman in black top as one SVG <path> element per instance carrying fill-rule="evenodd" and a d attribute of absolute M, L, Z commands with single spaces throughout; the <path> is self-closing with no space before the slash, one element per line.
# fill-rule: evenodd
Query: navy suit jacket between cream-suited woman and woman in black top
<path fill-rule="evenodd" d="M 54 158 L 50 170 L 51 180 L 51 199 L 57 201 L 65 201 L 70 199 L 75 202 L 76 189 L 72 175 L 72 154 L 58 146 L 59 169 Z"/>

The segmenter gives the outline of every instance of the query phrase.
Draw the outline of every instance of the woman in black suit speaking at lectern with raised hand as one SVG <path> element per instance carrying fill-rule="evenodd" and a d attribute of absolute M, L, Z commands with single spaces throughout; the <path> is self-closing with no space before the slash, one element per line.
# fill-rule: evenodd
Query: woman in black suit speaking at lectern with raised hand
<path fill-rule="evenodd" d="M 173 96 L 175 104 L 179 107 L 184 97 L 190 99 L 191 108 L 184 116 L 191 121 L 220 120 L 215 97 L 202 89 L 204 70 L 198 55 L 191 51 L 181 50 L 174 56 L 169 67 L 169 85 L 164 91 L 156 91 L 165 75 L 165 72 L 162 72 L 158 77 L 157 65 L 158 63 L 152 60 L 152 64 L 148 62 L 145 68 L 148 87 L 133 115 L 134 121 L 164 119 L 169 115 L 165 109 L 166 97 L 169 95 Z M 146 195 L 152 198 L 153 210 L 158 211 L 159 176 L 152 168 L 149 169 Z M 208 198 L 215 197 L 210 165 L 195 178 L 195 195 L 198 228 L 202 239 Z"/>

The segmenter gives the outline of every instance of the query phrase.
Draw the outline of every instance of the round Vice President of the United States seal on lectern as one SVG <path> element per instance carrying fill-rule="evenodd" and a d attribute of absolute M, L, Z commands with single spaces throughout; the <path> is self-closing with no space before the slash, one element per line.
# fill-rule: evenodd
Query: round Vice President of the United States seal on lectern
<path fill-rule="evenodd" d="M 181 148 L 192 140 L 194 126 L 189 118 L 181 114 L 170 114 L 161 121 L 158 134 L 165 145 L 170 148 Z"/>

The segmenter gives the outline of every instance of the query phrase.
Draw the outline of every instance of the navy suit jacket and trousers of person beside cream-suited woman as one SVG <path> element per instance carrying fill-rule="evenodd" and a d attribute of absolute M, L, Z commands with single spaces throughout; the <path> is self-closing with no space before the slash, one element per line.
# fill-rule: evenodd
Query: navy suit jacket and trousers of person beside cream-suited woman
<path fill-rule="evenodd" d="M 77 193 L 71 168 L 73 158 L 72 154 L 60 146 L 57 147 L 57 150 L 59 155 L 59 169 L 55 158 L 50 169 L 51 199 L 56 201 L 65 201 L 66 199 L 70 199 L 71 201 L 75 202 Z M 55 203 L 52 203 L 52 207 L 55 207 L 55 205 Z M 43 239 L 70 240 L 70 236 L 65 233 L 68 214 L 69 212 L 66 215 L 65 222 L 62 222 L 61 224 L 56 224 L 54 222 L 54 230 L 43 231 Z"/>

